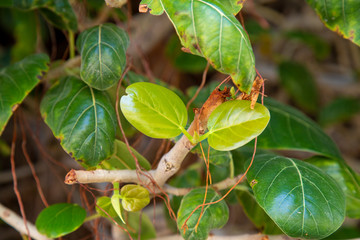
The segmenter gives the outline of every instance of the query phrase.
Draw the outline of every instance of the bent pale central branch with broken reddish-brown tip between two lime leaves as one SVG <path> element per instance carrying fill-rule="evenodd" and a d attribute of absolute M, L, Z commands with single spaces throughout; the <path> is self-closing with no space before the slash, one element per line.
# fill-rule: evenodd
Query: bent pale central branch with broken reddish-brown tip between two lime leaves
<path fill-rule="evenodd" d="M 189 134 L 194 135 L 195 131 L 198 132 L 198 135 L 204 134 L 210 114 L 215 108 L 225 102 L 228 96 L 228 89 L 225 88 L 222 91 L 215 89 L 203 107 L 195 109 L 195 119 L 187 130 Z M 160 159 L 157 169 L 151 170 L 147 174 L 150 174 L 156 184 L 162 187 L 180 169 L 186 155 L 194 146 L 186 136 L 182 136 L 174 147 Z M 150 180 L 142 175 L 138 178 L 134 170 L 71 170 L 65 177 L 66 184 L 94 182 L 134 182 L 147 185 L 150 183 Z"/>

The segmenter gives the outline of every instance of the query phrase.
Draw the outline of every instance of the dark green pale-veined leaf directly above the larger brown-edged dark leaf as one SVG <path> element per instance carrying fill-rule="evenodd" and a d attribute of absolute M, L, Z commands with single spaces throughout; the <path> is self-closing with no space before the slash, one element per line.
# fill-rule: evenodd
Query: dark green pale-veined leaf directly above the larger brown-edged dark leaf
<path fill-rule="evenodd" d="M 81 54 L 81 79 L 90 87 L 105 90 L 117 83 L 126 65 L 129 37 L 111 23 L 85 30 L 76 41 Z"/>

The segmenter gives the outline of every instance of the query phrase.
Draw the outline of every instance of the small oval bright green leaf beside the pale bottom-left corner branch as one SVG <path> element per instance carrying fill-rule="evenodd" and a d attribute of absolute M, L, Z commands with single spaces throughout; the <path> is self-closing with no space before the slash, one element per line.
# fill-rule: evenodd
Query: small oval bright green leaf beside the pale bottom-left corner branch
<path fill-rule="evenodd" d="M 86 211 L 82 207 L 58 203 L 41 211 L 36 219 L 36 228 L 49 238 L 58 238 L 78 229 L 85 217 Z"/>

